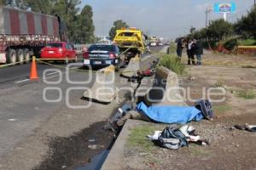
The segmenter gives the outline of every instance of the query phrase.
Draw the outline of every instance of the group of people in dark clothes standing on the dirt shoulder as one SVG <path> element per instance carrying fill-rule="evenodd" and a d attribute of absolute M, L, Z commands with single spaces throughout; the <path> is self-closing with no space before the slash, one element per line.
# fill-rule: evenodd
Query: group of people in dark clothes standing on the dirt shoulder
<path fill-rule="evenodd" d="M 201 41 L 197 39 L 188 39 L 180 38 L 177 42 L 177 56 L 181 59 L 183 48 L 187 48 L 188 55 L 188 65 L 201 65 L 201 56 L 203 54 L 203 47 Z M 196 62 L 195 62 L 196 56 Z"/>

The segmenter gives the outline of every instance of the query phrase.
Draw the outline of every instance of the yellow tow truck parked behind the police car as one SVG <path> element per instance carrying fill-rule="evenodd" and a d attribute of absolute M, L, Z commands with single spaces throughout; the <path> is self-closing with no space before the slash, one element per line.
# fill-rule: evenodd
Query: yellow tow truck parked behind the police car
<path fill-rule="evenodd" d="M 145 51 L 145 37 L 143 31 L 137 28 L 123 28 L 116 31 L 113 42 L 119 46 L 120 50 L 125 54 L 126 62 L 131 58 L 138 56 Z"/>

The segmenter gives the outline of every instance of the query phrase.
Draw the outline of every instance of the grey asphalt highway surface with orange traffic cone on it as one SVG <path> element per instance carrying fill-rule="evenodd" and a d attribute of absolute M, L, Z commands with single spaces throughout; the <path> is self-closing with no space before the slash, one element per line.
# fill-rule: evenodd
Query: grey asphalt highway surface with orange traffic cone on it
<path fill-rule="evenodd" d="M 157 52 L 161 48 L 152 50 Z M 144 63 L 148 65 L 151 57 L 143 58 Z M 93 103 L 87 109 L 68 108 L 67 103 L 80 106 L 89 104 L 81 99 L 84 92 L 81 88 L 90 88 L 93 82 L 67 82 L 67 76 L 73 81 L 86 81 L 89 79 L 89 73 L 71 71 L 67 75 L 65 69 L 59 68 L 60 66 L 65 67 L 62 64 L 57 67 L 38 64 L 38 82 L 26 81 L 29 77 L 29 64 L 0 69 L 0 169 L 31 169 L 48 156 L 50 139 L 56 136 L 68 137 L 96 122 L 105 121 L 119 107 L 119 102 L 113 102 L 110 105 Z M 42 77 L 47 69 L 58 71 L 49 71 L 46 77 Z M 116 76 L 119 77 L 118 73 Z M 95 73 L 92 77 L 95 78 Z M 56 82 L 60 78 L 62 79 L 58 84 L 45 82 Z M 116 83 L 119 85 L 119 82 Z M 61 99 L 46 102 L 45 88 L 52 88 L 45 93 L 47 99 Z M 78 89 L 67 93 L 70 88 Z M 68 98 L 67 94 L 70 94 Z"/>

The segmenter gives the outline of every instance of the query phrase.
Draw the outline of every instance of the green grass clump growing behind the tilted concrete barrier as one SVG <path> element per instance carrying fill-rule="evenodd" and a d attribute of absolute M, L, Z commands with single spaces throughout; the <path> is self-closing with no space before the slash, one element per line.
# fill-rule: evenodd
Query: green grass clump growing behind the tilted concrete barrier
<path fill-rule="evenodd" d="M 163 55 L 160 59 L 159 66 L 164 66 L 178 75 L 183 75 L 185 71 L 185 65 L 183 65 L 180 59 L 175 54 Z"/>

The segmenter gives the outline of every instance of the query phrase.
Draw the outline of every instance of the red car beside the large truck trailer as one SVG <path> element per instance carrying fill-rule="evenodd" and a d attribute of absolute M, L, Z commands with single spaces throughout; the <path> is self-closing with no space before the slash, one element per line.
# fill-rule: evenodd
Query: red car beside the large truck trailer
<path fill-rule="evenodd" d="M 41 50 L 41 59 L 62 60 L 68 64 L 69 61 L 76 62 L 78 55 L 75 48 L 67 42 L 49 42 Z"/>

